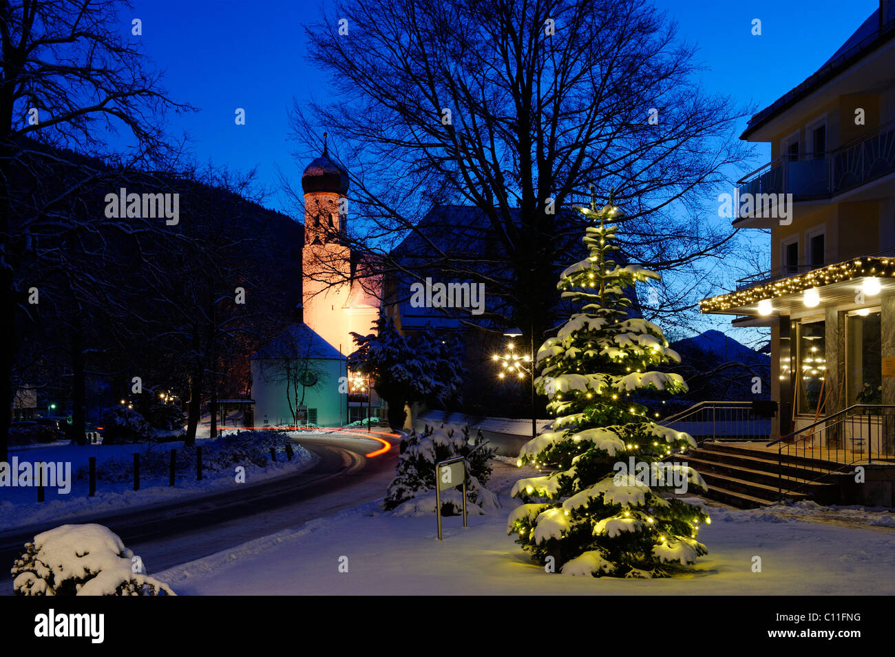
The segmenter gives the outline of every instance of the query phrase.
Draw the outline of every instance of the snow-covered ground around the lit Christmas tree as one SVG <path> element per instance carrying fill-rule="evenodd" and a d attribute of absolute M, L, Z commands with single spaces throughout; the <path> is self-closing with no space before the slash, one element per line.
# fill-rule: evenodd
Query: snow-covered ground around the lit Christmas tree
<path fill-rule="evenodd" d="M 528 474 L 495 464 L 498 513 L 443 519 L 383 514 L 379 501 L 274 533 L 155 574 L 178 594 L 891 594 L 892 515 L 814 505 L 741 511 L 712 504 L 709 548 L 692 575 L 616 580 L 547 574 L 507 536 L 516 501 L 508 486 Z M 702 501 L 702 500 L 700 500 Z M 761 572 L 753 572 L 754 558 Z M 347 572 L 340 565 L 347 564 Z M 344 566 L 343 568 L 344 569 Z"/>

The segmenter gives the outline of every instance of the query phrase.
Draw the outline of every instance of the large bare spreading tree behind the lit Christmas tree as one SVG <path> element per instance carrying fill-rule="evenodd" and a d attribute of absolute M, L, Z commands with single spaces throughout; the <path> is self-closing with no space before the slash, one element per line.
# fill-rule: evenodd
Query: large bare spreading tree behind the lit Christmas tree
<path fill-rule="evenodd" d="M 628 260 L 698 279 L 696 260 L 733 248 L 728 226 L 700 212 L 746 154 L 732 132 L 746 109 L 700 88 L 694 48 L 650 4 L 340 2 L 307 35 L 332 93 L 296 103 L 291 120 L 303 157 L 328 130 L 330 157 L 350 175 L 353 226 L 337 239 L 377 253 L 394 277 L 441 270 L 485 284 L 488 311 L 467 320 L 541 339 L 557 263 L 582 230 L 558 209 L 591 184 L 625 210 Z M 421 224 L 444 204 L 478 209 L 473 241 L 488 247 L 449 252 L 439 226 Z M 447 209 L 445 229 L 457 223 Z M 392 254 L 407 235 L 411 266 Z M 338 270 L 314 264 L 321 279 Z M 675 296 L 654 313 L 692 311 L 683 295 L 694 286 L 663 290 Z"/>

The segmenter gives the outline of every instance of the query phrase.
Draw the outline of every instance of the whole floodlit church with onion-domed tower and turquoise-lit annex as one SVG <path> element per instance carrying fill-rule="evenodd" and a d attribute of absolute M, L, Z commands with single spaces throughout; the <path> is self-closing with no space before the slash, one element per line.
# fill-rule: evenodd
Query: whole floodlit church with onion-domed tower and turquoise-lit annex
<path fill-rule="evenodd" d="M 251 356 L 258 425 L 339 426 L 368 412 L 382 416 L 369 382 L 345 366 L 351 333 L 371 333 L 381 308 L 380 278 L 343 239 L 348 182 L 326 147 L 303 172 L 301 319 Z"/>

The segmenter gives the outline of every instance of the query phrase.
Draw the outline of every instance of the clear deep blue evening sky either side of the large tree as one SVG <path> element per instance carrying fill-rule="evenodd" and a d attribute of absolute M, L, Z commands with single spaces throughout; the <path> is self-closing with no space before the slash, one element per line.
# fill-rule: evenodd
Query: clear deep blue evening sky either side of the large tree
<path fill-rule="evenodd" d="M 706 90 L 759 107 L 814 73 L 878 6 L 876 0 L 654 4 L 678 21 L 680 38 L 699 47 Z M 304 61 L 303 21 L 316 20 L 320 6 L 301 0 L 133 3 L 132 17 L 143 21 L 146 52 L 165 71 L 166 89 L 200 110 L 175 115 L 171 124 L 172 132 L 189 134 L 200 163 L 239 171 L 257 166 L 260 183 L 271 189 L 277 166 L 301 175 L 303 164 L 290 154 L 286 111 L 293 98 L 326 92 L 326 76 Z M 761 37 L 750 32 L 754 18 L 762 21 Z M 245 125 L 234 124 L 236 107 L 245 108 Z M 759 152 L 764 158 L 768 150 Z M 284 209 L 277 194 L 268 205 Z"/>

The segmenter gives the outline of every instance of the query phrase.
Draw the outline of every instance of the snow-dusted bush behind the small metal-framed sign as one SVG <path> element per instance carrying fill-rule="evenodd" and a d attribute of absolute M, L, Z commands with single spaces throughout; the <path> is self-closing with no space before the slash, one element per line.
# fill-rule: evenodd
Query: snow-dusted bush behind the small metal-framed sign
<path fill-rule="evenodd" d="M 484 441 L 482 431 L 470 439 L 469 426 L 457 432 L 426 426 L 422 434 L 413 431 L 401 439 L 397 474 L 388 485 L 384 508 L 396 508 L 397 515 L 435 511 L 435 464 L 455 456 L 466 456 L 466 496 L 480 512 L 499 507 L 497 496 L 485 488 L 491 474 L 490 456 L 495 448 L 476 449 Z M 474 450 L 474 451 L 473 451 Z M 445 516 L 463 513 L 462 485 L 442 491 L 441 512 Z M 400 508 L 399 508 L 400 507 Z"/>

